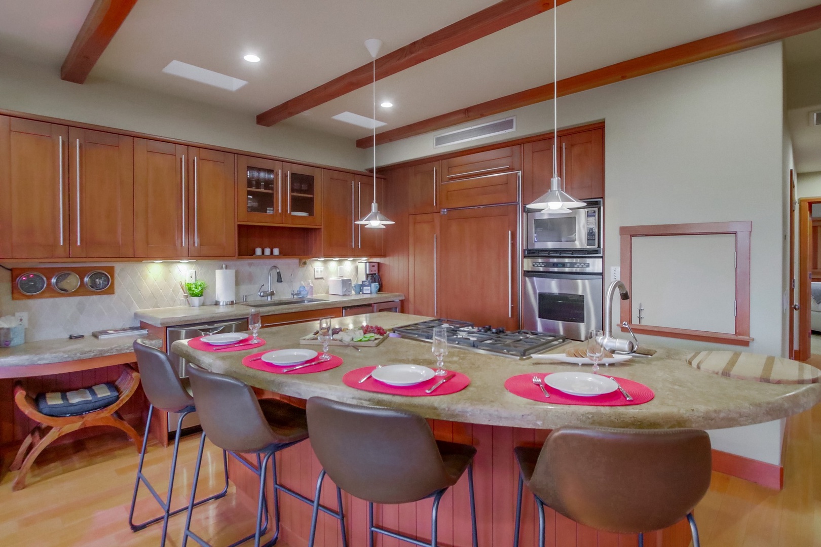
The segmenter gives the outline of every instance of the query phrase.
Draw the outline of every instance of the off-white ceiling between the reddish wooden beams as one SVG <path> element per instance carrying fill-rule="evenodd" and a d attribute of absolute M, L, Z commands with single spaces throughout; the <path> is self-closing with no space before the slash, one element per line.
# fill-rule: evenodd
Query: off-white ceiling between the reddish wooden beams
<path fill-rule="evenodd" d="M 369 62 L 365 39 L 391 52 L 497 0 L 139 0 L 91 79 L 115 80 L 257 114 Z M 573 0 L 557 10 L 559 78 L 764 21 L 818 0 Z M 93 0 L 0 2 L 0 51 L 55 69 Z M 553 79 L 552 12 L 532 17 L 377 82 L 388 130 Z M 801 48 L 799 48 L 801 49 Z M 262 62 L 242 60 L 246 53 Z M 250 83 L 236 92 L 163 74 L 172 60 Z M 357 139 L 334 121 L 371 113 L 358 89 L 284 123 Z"/>

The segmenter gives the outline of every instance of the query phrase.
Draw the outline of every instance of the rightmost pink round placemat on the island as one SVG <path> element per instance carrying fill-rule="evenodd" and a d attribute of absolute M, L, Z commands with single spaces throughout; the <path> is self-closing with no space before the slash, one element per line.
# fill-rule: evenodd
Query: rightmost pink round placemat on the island
<path fill-rule="evenodd" d="M 544 381 L 544 378 L 550 376 L 550 374 L 520 374 L 518 376 L 511 376 L 505 381 L 505 389 L 514 395 L 532 401 L 539 401 L 539 403 L 581 404 L 590 407 L 626 407 L 647 403 L 655 397 L 653 390 L 644 384 L 618 376 L 608 376 L 608 378 L 616 378 L 621 387 L 623 387 L 627 393 L 631 394 L 633 400 L 628 401 L 625 399 L 619 390 L 594 397 L 580 397 L 578 395 L 566 394 L 562 393 L 562 391 L 554 390 L 546 384 L 544 388 L 548 390 L 550 397 L 545 398 L 542 389 L 533 383 L 533 376 L 539 376 L 539 378 Z M 602 376 L 607 375 L 603 374 Z"/>

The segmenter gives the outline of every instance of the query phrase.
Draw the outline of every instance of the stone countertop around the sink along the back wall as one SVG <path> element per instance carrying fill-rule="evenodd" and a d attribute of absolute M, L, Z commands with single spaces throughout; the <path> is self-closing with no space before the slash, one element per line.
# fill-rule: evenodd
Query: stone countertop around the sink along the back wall
<path fill-rule="evenodd" d="M 317 294 L 311 299 L 318 299 L 319 302 L 283 304 L 281 306 L 260 307 L 263 315 L 277 315 L 280 313 L 309 312 L 326 308 L 342 308 L 346 306 L 359 306 L 362 304 L 372 304 L 389 302 L 391 300 L 404 300 L 405 295 L 401 293 L 377 293 L 377 294 L 351 294 L 350 296 L 339 296 L 337 294 Z M 287 301 L 288 299 L 275 299 L 277 301 Z M 176 308 L 153 308 L 137 310 L 134 317 L 153 326 L 177 326 L 188 323 L 202 321 L 222 321 L 229 319 L 244 319 L 249 315 L 249 306 L 234 304 L 232 306 L 200 306 L 192 308 L 190 306 L 179 306 Z"/>

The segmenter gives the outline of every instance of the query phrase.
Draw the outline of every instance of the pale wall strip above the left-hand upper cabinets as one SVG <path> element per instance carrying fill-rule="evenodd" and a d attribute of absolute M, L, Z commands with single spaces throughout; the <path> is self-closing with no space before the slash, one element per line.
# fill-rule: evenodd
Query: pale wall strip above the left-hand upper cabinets
<path fill-rule="evenodd" d="M 263 127 L 249 113 L 104 80 L 72 84 L 60 80 L 58 69 L 2 55 L 0 108 L 328 166 L 369 165 L 368 151 L 353 140 L 287 124 Z"/>

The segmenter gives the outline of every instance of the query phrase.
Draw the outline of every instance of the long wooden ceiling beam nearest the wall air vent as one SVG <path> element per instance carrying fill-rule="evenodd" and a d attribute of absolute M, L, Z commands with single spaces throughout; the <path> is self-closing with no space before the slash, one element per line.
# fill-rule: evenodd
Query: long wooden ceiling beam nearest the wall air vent
<path fill-rule="evenodd" d="M 622 80 L 630 80 L 636 76 L 652 74 L 675 66 L 703 61 L 710 57 L 718 57 L 741 49 L 775 42 L 819 28 L 821 28 L 821 5 L 794 11 L 785 16 L 741 27 L 741 29 L 715 34 L 708 38 L 683 43 L 673 48 L 663 49 L 659 52 L 649 53 L 649 55 L 635 57 L 629 61 L 604 66 L 595 71 L 559 80 L 557 94 L 559 97 L 563 97 L 572 93 L 579 93 L 580 91 L 614 84 Z M 376 144 L 392 143 L 417 134 L 445 129 L 467 121 L 475 121 L 486 116 L 542 103 L 552 98 L 553 83 L 540 85 L 505 97 L 495 98 L 485 103 L 475 104 L 471 107 L 461 108 L 453 112 L 447 112 L 447 114 L 433 116 L 426 120 L 383 131 L 376 135 Z M 369 136 L 358 139 L 356 146 L 358 148 L 370 148 L 373 143 L 374 138 Z"/>

